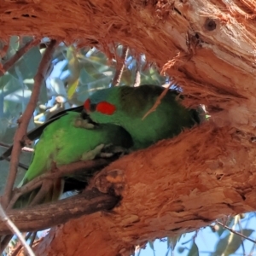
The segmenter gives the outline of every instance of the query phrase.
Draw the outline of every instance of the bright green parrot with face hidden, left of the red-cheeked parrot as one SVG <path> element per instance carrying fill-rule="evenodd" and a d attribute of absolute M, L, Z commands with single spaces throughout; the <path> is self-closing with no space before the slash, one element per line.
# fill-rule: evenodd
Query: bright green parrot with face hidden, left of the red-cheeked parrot
<path fill-rule="evenodd" d="M 76 112 L 65 112 L 63 116 L 58 115 L 53 119 L 54 121 L 50 120 L 46 128 L 44 127 L 44 131 L 35 146 L 32 163 L 20 186 L 45 172 L 49 172 L 53 165 L 63 166 L 79 160 L 93 160 L 102 154 L 111 156 L 111 151 L 105 153 L 102 151 L 105 148 L 108 150 L 108 147 L 109 150 L 122 150 L 122 148 L 128 149 L 132 146 L 130 134 L 119 125 L 94 125 L 88 122 L 88 119 L 84 119 L 83 114 Z M 38 132 L 38 130 L 35 131 Z M 89 177 L 96 171 L 83 173 L 84 180 L 82 183 L 87 183 Z M 65 182 L 68 183 L 70 179 L 75 179 L 74 188 L 77 189 L 81 177 L 82 175 L 79 174 L 77 178 L 74 175 L 56 179 L 42 202 L 57 200 L 65 190 Z M 15 208 L 28 205 L 37 195 L 38 190 L 21 195 L 15 203 Z"/>

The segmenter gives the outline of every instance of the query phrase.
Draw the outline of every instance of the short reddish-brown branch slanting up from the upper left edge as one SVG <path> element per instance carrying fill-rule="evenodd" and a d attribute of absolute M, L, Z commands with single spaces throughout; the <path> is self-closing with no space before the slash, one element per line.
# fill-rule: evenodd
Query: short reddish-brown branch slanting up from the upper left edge
<path fill-rule="evenodd" d="M 6 61 L 3 64 L 3 67 L 0 70 L 0 77 L 2 77 L 4 75 L 4 73 L 6 73 L 10 67 L 15 65 L 16 61 L 19 61 L 20 57 L 22 57 L 29 49 L 31 49 L 33 46 L 38 45 L 40 43 L 39 39 L 36 40 L 32 40 L 28 43 L 26 43 L 23 47 L 21 47 L 20 49 L 18 49 L 15 53 L 15 55 L 13 55 L 9 61 Z"/>

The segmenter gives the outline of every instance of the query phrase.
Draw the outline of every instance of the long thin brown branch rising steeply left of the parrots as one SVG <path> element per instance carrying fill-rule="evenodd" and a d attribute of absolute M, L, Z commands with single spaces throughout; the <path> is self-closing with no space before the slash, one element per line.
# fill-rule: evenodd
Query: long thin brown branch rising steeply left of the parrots
<path fill-rule="evenodd" d="M 12 150 L 10 167 L 9 167 L 9 177 L 8 177 L 3 198 L 2 198 L 3 207 L 7 207 L 10 201 L 12 189 L 15 183 L 15 177 L 17 174 L 17 166 L 19 164 L 20 150 L 22 148 L 20 142 L 22 141 L 23 137 L 26 135 L 27 125 L 29 123 L 29 120 L 32 118 L 32 113 L 34 112 L 34 109 L 37 107 L 41 84 L 43 84 L 42 82 L 45 79 L 44 76 L 47 73 L 49 63 L 51 61 L 52 55 L 55 50 L 55 45 L 56 45 L 56 41 L 51 40 L 48 48 L 45 50 L 42 61 L 40 62 L 38 67 L 38 73 L 34 78 L 35 83 L 33 86 L 31 98 L 27 104 L 25 112 L 22 114 L 21 118 L 18 120 L 19 126 L 17 128 L 17 131 L 15 132 L 14 148 Z"/>

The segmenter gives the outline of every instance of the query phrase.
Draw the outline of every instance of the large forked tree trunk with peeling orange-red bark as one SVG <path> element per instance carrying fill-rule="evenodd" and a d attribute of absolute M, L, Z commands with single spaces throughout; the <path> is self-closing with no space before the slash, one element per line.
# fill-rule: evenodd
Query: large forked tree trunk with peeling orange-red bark
<path fill-rule="evenodd" d="M 93 181 L 123 196 L 113 212 L 51 230 L 38 255 L 116 255 L 227 214 L 250 212 L 255 175 L 256 2 L 26 1 L 0 6 L 0 38 L 47 36 L 94 45 L 119 42 L 147 55 L 206 104 L 211 121 L 125 156 Z"/>

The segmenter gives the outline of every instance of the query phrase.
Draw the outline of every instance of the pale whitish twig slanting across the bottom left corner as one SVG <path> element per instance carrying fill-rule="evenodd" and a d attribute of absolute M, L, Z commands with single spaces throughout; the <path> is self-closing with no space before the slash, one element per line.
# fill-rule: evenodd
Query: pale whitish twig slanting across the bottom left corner
<path fill-rule="evenodd" d="M 33 253 L 32 248 L 26 243 L 26 240 L 20 233 L 20 230 L 18 230 L 18 228 L 15 226 L 15 224 L 9 219 L 9 217 L 3 211 L 3 207 L 1 204 L 0 204 L 0 218 L 2 218 L 3 222 L 9 227 L 9 230 L 11 230 L 14 235 L 18 236 L 21 244 L 23 245 L 23 247 L 25 247 L 26 252 L 30 256 L 36 256 L 35 253 Z"/>

